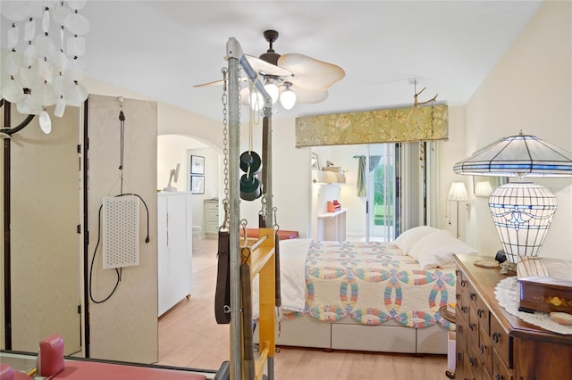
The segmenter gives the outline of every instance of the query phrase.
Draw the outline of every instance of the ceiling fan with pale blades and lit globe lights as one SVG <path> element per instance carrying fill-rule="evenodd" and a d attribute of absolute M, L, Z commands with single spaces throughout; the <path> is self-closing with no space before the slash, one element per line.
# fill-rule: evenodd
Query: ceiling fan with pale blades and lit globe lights
<path fill-rule="evenodd" d="M 258 58 L 248 54 L 245 56 L 252 69 L 262 78 L 273 103 L 280 99 L 286 110 L 290 110 L 296 103 L 324 101 L 328 96 L 328 88 L 346 75 L 340 66 L 304 54 L 277 54 L 273 50 L 273 43 L 278 38 L 275 30 L 265 30 L 264 37 L 269 44 L 266 53 Z M 195 87 L 220 83 L 222 82 L 215 81 Z M 257 101 L 257 93 L 251 93 L 249 88 L 243 88 L 240 95 L 243 103 L 254 106 Z M 260 101 L 259 104 L 261 103 Z"/>

